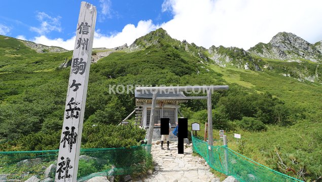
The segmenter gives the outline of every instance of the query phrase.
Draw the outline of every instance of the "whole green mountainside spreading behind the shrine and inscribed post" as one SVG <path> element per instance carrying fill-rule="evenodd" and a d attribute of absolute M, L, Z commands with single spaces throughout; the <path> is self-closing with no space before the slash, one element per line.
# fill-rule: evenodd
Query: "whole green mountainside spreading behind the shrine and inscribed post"
<path fill-rule="evenodd" d="M 11 140 L 0 150 L 57 149 L 70 69 L 58 67 L 72 53 L 37 53 L 8 37 L 0 37 L 0 45 L 0 141 Z M 305 71 L 305 76 L 317 75 L 315 83 L 294 79 Z M 318 63 L 286 62 L 222 46 L 205 49 L 158 29 L 91 65 L 82 145 L 115 147 L 116 137 L 122 137 L 103 137 L 109 133 L 92 127 L 117 125 L 134 109 L 131 92 L 113 94 L 110 86 L 227 84 L 228 91 L 212 96 L 214 133 L 225 129 L 232 149 L 264 165 L 316 179 L 322 174 L 320 73 Z M 189 123 L 205 121 L 205 101 L 181 108 Z M 242 140 L 236 142 L 233 133 L 241 133 Z M 286 172 L 276 152 L 302 173 Z"/>

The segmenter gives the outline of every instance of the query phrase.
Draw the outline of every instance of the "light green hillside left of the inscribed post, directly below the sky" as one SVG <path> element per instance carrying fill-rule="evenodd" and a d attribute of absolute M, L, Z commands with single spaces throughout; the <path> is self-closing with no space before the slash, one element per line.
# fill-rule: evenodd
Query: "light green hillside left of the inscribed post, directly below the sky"
<path fill-rule="evenodd" d="M 28 88 L 35 88 L 60 80 L 57 66 L 65 58 L 71 59 L 71 52 L 36 53 L 22 42 L 0 35 L 0 103 L 9 96 L 23 93 Z M 63 70 L 64 74 L 66 73 Z M 65 78 L 68 78 L 63 76 Z"/>

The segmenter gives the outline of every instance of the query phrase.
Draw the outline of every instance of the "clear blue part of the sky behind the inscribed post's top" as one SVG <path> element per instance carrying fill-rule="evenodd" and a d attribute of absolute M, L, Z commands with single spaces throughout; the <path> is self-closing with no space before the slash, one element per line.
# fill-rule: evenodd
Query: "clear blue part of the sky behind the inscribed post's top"
<path fill-rule="evenodd" d="M 154 23 L 162 23 L 171 19 L 169 12 L 162 13 L 162 0 L 158 1 L 87 1 L 98 10 L 96 27 L 101 33 L 122 31 L 125 25 L 137 24 L 140 20 L 151 19 Z M 3 1 L 0 22 L 10 27 L 9 36 L 24 35 L 27 39 L 46 34 L 48 38 L 68 39 L 74 36 L 80 11 L 81 1 Z M 45 15 L 46 14 L 46 15 Z M 48 15 L 48 16 L 47 16 Z M 43 21 L 52 22 L 50 32 L 37 32 L 30 27 L 41 28 Z M 57 21 L 55 21 L 55 20 Z M 59 22 L 59 23 L 58 23 Z"/>

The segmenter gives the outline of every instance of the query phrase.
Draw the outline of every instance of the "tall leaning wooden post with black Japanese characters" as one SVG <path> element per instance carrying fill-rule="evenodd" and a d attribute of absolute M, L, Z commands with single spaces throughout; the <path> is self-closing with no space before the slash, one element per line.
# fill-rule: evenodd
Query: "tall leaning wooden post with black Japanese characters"
<path fill-rule="evenodd" d="M 68 81 L 55 181 L 77 181 L 95 22 L 95 6 L 82 2 Z"/>

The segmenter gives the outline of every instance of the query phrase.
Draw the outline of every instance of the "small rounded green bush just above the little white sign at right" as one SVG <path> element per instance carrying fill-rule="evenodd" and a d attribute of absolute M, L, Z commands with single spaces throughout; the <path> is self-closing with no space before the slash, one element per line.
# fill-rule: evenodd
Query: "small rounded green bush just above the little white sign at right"
<path fill-rule="evenodd" d="M 242 120 L 238 122 L 240 128 L 248 131 L 266 131 L 266 125 L 257 120 L 256 118 L 251 117 L 242 117 Z"/>

